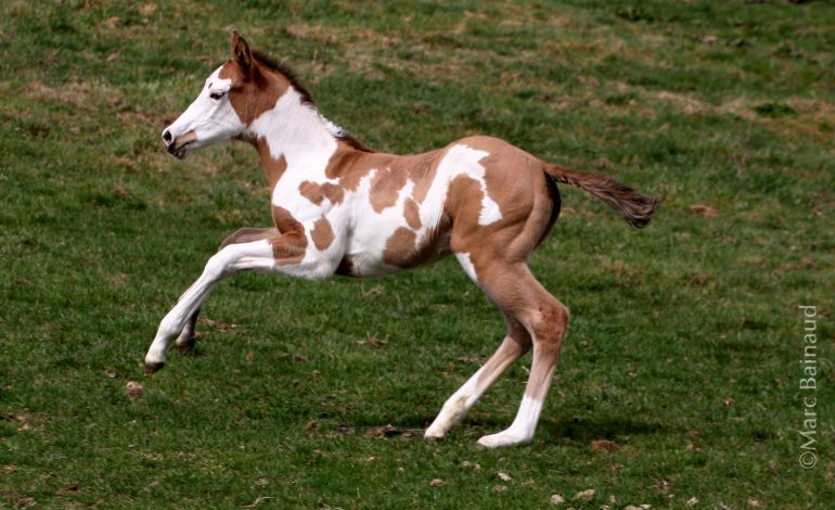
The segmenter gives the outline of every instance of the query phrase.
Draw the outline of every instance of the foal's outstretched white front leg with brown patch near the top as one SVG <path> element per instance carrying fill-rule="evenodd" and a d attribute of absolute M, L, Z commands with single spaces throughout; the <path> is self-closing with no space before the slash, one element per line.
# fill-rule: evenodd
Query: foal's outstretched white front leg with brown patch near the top
<path fill-rule="evenodd" d="M 288 232 L 224 246 L 209 258 L 203 275 L 159 323 L 154 342 L 145 355 L 145 373 L 153 373 L 163 368 L 168 347 L 183 333 L 190 320 L 196 318 L 195 314 L 203 302 L 224 277 L 236 271 L 255 269 L 323 278 L 333 275 L 335 267 L 336 265 L 327 263 L 321 253 L 308 248 L 307 237 L 303 232 Z"/>

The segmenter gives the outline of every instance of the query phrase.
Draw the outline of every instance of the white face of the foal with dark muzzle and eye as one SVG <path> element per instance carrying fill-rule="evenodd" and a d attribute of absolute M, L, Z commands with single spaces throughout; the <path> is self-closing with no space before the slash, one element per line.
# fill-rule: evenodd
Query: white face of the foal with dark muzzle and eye
<path fill-rule="evenodd" d="M 206 79 L 197 99 L 166 129 L 177 146 L 178 140 L 189 140 L 183 151 L 229 140 L 245 127 L 229 101 L 232 80 L 220 78 L 220 69 Z"/>

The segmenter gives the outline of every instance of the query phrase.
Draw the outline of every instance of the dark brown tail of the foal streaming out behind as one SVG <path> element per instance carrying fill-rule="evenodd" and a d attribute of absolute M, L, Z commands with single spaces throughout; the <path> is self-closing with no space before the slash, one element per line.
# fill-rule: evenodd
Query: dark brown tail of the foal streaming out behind
<path fill-rule="evenodd" d="M 545 174 L 557 182 L 576 186 L 614 207 L 629 225 L 645 227 L 660 204 L 660 199 L 647 196 L 638 191 L 598 174 L 584 174 L 557 165 L 545 167 Z"/>

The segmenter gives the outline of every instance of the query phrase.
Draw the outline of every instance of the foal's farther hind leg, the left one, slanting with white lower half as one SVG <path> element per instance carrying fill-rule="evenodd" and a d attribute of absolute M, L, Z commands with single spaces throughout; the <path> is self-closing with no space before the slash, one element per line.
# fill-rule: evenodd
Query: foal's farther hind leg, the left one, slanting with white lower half
<path fill-rule="evenodd" d="M 490 359 L 447 399 L 438 417 L 426 429 L 424 437 L 444 437 L 452 426 L 466 417 L 473 405 L 508 367 L 528 352 L 530 335 L 527 330 L 513 317 L 505 315 L 504 319 L 508 322 L 508 336 Z"/>

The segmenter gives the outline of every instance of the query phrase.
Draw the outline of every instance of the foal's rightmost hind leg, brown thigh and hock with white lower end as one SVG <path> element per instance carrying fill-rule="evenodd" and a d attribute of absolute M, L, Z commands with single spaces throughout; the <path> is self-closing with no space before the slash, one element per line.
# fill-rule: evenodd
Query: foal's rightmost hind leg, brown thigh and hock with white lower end
<path fill-rule="evenodd" d="M 530 334 L 534 360 L 516 418 L 506 430 L 478 439 L 496 448 L 530 443 L 551 385 L 566 330 L 568 309 L 534 278 L 524 263 L 494 263 L 478 269 L 485 292 Z"/>

